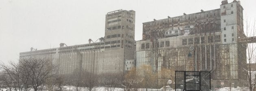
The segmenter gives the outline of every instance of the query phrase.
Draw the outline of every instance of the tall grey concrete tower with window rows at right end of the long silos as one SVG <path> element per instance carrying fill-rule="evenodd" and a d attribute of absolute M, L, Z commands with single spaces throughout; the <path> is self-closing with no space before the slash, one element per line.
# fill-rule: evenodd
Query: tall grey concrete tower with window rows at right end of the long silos
<path fill-rule="evenodd" d="M 108 12 L 105 22 L 105 55 L 100 73 L 124 71 L 125 60 L 134 59 L 135 11 Z"/>

